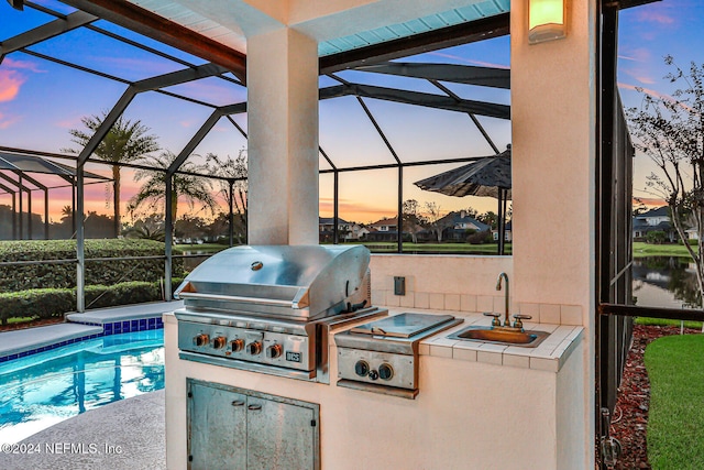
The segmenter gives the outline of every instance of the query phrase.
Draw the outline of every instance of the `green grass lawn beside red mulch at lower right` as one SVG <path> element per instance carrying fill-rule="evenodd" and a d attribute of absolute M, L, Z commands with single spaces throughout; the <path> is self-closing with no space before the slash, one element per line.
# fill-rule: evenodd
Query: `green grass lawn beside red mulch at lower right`
<path fill-rule="evenodd" d="M 704 469 L 704 335 L 660 338 L 646 349 L 648 460 L 653 470 Z"/>

